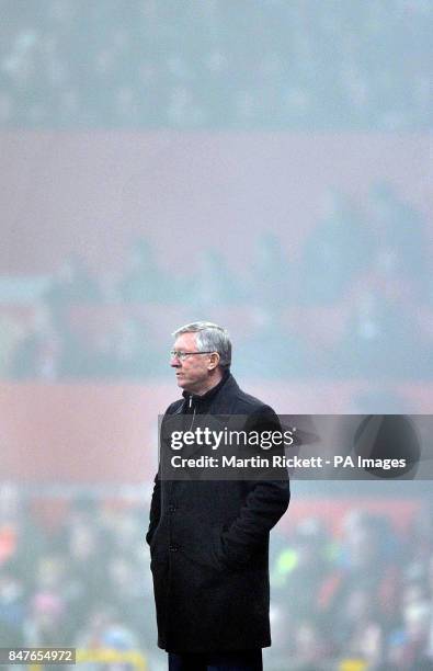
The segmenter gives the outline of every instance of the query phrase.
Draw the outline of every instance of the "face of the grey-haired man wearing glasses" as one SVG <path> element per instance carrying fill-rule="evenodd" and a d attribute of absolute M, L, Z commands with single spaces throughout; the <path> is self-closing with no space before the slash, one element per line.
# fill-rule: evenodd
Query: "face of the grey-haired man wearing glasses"
<path fill-rule="evenodd" d="M 182 333 L 173 344 L 176 352 L 197 352 L 195 333 Z M 193 354 L 184 361 L 178 357 L 171 359 L 170 365 L 175 368 L 178 387 L 192 394 L 202 394 L 206 390 L 209 379 L 209 354 Z"/>

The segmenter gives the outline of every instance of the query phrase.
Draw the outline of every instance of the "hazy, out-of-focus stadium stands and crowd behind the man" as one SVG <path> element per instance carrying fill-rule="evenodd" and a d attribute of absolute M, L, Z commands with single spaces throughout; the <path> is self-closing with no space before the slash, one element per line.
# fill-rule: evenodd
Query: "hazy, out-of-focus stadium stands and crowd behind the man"
<path fill-rule="evenodd" d="M 0 0 L 0 644 L 164 668 L 174 328 L 287 413 L 432 408 L 428 0 Z M 269 671 L 431 669 L 419 482 L 295 482 Z M 428 484 L 429 485 L 429 484 Z"/>

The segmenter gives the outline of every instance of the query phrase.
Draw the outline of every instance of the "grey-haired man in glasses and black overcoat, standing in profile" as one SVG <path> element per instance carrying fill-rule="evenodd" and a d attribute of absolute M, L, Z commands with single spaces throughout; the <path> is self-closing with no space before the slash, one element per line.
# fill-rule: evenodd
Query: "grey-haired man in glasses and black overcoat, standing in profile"
<path fill-rule="evenodd" d="M 195 322 L 174 332 L 171 366 L 183 398 L 173 416 L 278 420 L 230 374 L 226 329 Z M 187 419 L 187 418 L 184 418 Z M 288 480 L 173 481 L 155 478 L 147 542 L 158 645 L 170 671 L 259 671 L 271 645 L 269 533 L 286 511 Z"/>

